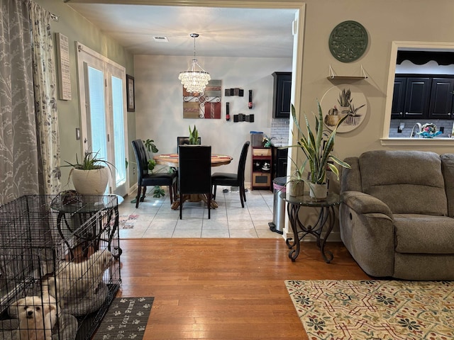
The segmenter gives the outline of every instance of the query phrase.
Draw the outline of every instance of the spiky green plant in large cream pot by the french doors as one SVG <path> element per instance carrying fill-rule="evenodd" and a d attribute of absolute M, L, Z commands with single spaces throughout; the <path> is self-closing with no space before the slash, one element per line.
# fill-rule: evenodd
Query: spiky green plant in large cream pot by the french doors
<path fill-rule="evenodd" d="M 81 195 L 104 195 L 106 192 L 110 166 L 114 166 L 114 164 L 98 155 L 99 152 L 86 151 L 81 162 L 79 162 L 77 154 L 75 163 L 65 161 L 67 166 L 72 166 L 69 177 L 72 179 L 77 193 Z"/>

